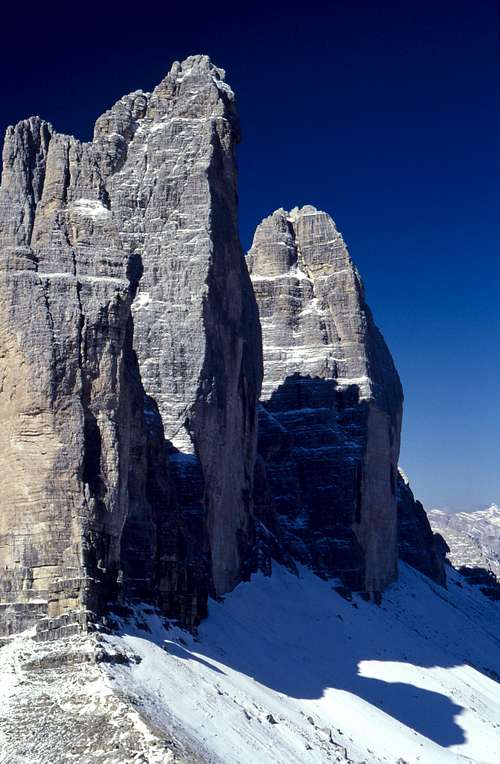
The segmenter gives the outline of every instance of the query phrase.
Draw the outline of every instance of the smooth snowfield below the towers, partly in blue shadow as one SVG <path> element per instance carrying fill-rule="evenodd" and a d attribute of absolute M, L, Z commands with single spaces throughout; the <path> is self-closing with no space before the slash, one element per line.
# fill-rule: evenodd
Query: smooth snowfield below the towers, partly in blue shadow
<path fill-rule="evenodd" d="M 197 638 L 125 626 L 110 640 L 142 660 L 109 678 L 207 761 L 496 764 L 500 608 L 450 575 L 446 592 L 402 565 L 377 607 L 275 566 L 211 602 Z"/>

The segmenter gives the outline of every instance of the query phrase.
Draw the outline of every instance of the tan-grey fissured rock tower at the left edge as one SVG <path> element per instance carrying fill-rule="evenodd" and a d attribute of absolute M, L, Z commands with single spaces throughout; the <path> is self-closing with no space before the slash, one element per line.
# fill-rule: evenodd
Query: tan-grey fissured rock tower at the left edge
<path fill-rule="evenodd" d="M 9 128 L 0 247 L 0 592 L 9 630 L 24 611 L 99 608 L 120 566 L 131 298 L 91 147 L 38 118 Z"/>

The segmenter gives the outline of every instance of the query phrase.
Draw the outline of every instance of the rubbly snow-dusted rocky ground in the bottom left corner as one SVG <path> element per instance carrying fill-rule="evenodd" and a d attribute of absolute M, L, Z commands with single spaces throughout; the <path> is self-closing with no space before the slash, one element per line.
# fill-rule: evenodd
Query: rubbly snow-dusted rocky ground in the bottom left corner
<path fill-rule="evenodd" d="M 92 637 L 45 644 L 30 637 L 0 649 L 0 764 L 178 761 L 140 709 L 111 687 L 93 660 Z"/>

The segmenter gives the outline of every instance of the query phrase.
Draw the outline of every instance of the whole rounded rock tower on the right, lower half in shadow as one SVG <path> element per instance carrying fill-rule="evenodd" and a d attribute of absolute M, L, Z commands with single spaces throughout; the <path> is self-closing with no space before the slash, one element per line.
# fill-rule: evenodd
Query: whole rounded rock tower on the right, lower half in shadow
<path fill-rule="evenodd" d="M 392 358 L 326 213 L 277 210 L 248 264 L 264 353 L 259 454 L 283 543 L 320 575 L 378 592 L 397 569 Z"/>

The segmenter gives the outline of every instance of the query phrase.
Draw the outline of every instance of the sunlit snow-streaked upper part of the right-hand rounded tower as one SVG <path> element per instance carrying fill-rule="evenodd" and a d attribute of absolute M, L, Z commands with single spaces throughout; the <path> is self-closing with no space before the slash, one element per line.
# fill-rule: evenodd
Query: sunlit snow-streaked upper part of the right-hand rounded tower
<path fill-rule="evenodd" d="M 383 403 L 388 410 L 400 405 L 402 391 L 394 363 L 373 323 L 361 278 L 342 234 L 326 212 L 312 205 L 295 207 L 291 212 L 276 210 L 258 226 L 247 262 L 257 291 L 256 284 L 267 279 L 291 279 L 288 293 L 296 303 L 293 321 L 285 311 L 281 316 L 268 316 L 260 306 L 261 322 L 264 327 L 269 325 L 268 351 L 273 331 L 285 331 L 290 371 L 300 371 L 300 347 L 309 347 L 314 336 L 316 352 L 312 356 L 308 353 L 304 361 L 309 373 L 334 376 L 339 384 L 342 378 L 346 384 L 356 383 L 363 397 L 380 403 L 389 396 L 391 400 Z M 299 310 L 301 303 L 303 309 Z M 325 311 L 334 316 L 330 328 L 324 325 Z M 277 360 L 283 352 L 282 339 Z M 272 363 L 268 353 L 264 392 L 273 375 Z M 387 384 L 391 379 L 394 384 Z"/>

